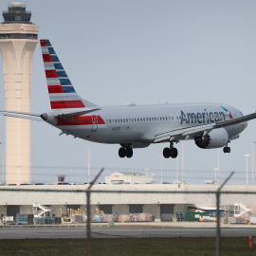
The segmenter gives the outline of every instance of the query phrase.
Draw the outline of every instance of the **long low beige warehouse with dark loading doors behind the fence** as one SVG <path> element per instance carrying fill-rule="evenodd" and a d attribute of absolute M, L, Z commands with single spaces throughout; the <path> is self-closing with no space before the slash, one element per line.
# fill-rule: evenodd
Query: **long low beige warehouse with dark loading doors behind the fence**
<path fill-rule="evenodd" d="M 49 216 L 56 217 L 70 210 L 86 211 L 87 186 L 0 186 L 0 216 L 31 214 L 33 207 L 46 209 Z M 215 192 L 218 188 L 216 184 L 99 184 L 92 187 L 91 210 L 92 213 L 96 213 L 97 209 L 105 213 L 146 212 L 152 213 L 155 221 L 170 221 L 175 212 L 188 212 L 189 208 L 216 209 Z M 226 185 L 223 192 L 228 191 L 238 193 L 222 194 L 222 208 L 243 204 L 256 210 L 256 185 Z"/>

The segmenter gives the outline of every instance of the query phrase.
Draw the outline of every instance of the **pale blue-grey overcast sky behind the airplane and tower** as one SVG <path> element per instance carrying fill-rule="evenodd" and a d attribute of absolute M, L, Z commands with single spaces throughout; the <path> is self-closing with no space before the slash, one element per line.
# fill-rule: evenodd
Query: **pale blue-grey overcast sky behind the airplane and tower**
<path fill-rule="evenodd" d="M 10 1 L 2 0 L 0 10 Z M 65 71 L 82 98 L 100 105 L 125 102 L 221 102 L 244 114 L 256 110 L 256 2 L 255 1 L 24 1 L 31 21 L 40 27 L 39 38 L 49 39 Z M 1 22 L 3 19 L 1 20 Z M 5 109 L 2 62 L 0 108 Z M 31 112 L 49 111 L 41 49 L 33 58 Z M 0 118 L 0 140 L 5 142 L 5 121 Z M 256 140 L 256 121 L 249 122 L 231 154 L 220 149 L 223 180 L 235 171 L 233 182 L 246 183 L 246 158 Z M 162 149 L 168 144 L 137 149 L 131 159 L 120 159 L 119 145 L 89 143 L 59 137 L 59 130 L 31 122 L 32 180 L 85 180 L 87 148 L 91 148 L 92 175 L 117 170 L 150 169 L 160 180 Z M 181 168 L 181 145 L 178 165 Z M 202 150 L 193 141 L 184 144 L 188 182 L 214 179 L 218 150 Z M 80 159 L 78 160 L 77 157 Z M 74 169 L 42 168 L 74 167 Z M 41 168 L 39 168 L 41 167 Z M 251 177 L 251 157 L 248 164 Z M 175 179 L 176 160 L 163 159 L 163 181 Z M 83 177 L 82 177 L 83 175 Z M 179 174 L 180 177 L 180 174 Z M 103 177 L 101 177 L 103 181 Z M 249 179 L 250 182 L 250 179 Z"/>

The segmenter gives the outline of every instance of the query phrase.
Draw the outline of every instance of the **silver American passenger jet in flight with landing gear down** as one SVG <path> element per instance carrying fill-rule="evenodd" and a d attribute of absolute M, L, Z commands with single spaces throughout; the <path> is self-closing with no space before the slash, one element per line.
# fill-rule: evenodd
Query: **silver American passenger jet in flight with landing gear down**
<path fill-rule="evenodd" d="M 51 111 L 33 114 L 1 111 L 8 117 L 43 119 L 66 134 L 93 142 L 119 144 L 119 157 L 133 156 L 133 149 L 153 143 L 169 143 L 165 158 L 178 155 L 175 143 L 194 140 L 201 149 L 222 148 L 247 128 L 256 113 L 244 116 L 238 109 L 220 103 L 178 103 L 99 106 L 83 100 L 75 91 L 49 40 L 40 40 Z"/>

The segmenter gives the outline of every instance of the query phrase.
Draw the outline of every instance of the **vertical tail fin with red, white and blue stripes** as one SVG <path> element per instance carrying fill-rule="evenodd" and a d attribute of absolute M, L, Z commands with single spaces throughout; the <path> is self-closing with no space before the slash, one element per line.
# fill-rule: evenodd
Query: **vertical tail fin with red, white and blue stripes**
<path fill-rule="evenodd" d="M 40 40 L 51 109 L 96 107 L 76 93 L 49 40 Z"/>

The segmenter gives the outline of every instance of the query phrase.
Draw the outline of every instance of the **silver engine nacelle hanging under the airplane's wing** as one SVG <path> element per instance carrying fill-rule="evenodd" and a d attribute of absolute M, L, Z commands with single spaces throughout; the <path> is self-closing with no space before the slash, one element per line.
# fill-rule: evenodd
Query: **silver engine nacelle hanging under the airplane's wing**
<path fill-rule="evenodd" d="M 196 146 L 201 149 L 215 149 L 227 145 L 229 135 L 224 128 L 214 129 L 207 136 L 195 137 Z"/>

